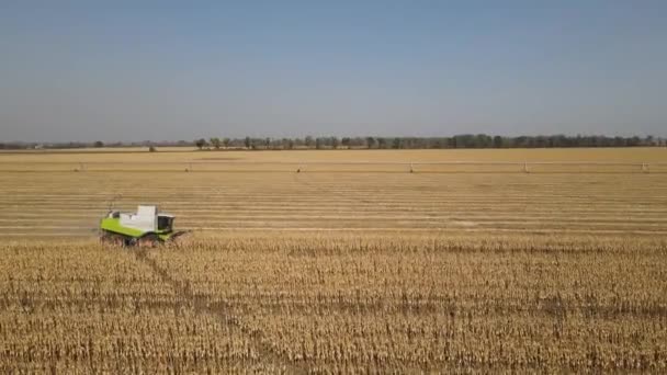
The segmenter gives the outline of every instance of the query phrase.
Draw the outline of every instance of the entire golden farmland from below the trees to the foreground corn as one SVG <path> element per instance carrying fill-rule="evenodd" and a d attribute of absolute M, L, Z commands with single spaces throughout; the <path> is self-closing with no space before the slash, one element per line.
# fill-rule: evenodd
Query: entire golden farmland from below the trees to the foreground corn
<path fill-rule="evenodd" d="M 181 168 L 212 158 L 271 163 Z M 95 164 L 109 161 L 122 163 Z M 0 371 L 667 371 L 658 167 L 349 161 L 641 164 L 667 150 L 0 154 Z M 101 246 L 116 194 L 194 232 Z"/>

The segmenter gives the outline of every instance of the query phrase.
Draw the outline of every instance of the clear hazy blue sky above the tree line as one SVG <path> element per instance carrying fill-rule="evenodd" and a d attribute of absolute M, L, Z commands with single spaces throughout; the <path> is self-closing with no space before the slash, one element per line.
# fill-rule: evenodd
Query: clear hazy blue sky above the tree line
<path fill-rule="evenodd" d="M 667 136 L 666 20 L 642 0 L 1 1 L 0 140 Z"/>

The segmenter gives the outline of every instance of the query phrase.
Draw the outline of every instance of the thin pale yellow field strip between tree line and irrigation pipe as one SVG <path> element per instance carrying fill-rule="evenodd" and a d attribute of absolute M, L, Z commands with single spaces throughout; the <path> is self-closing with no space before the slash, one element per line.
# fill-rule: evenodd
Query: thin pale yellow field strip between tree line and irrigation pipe
<path fill-rule="evenodd" d="M 94 148 L 0 152 L 0 161 L 620 161 L 667 162 L 667 148 L 546 148 L 546 149 L 449 149 L 449 150 L 293 150 L 225 151 L 191 147 Z"/>

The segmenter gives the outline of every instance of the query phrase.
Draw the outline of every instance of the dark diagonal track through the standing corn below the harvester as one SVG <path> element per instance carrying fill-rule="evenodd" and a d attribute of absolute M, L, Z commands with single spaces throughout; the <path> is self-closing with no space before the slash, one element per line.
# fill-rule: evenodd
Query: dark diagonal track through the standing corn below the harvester
<path fill-rule="evenodd" d="M 185 300 L 192 303 L 192 306 L 196 312 L 206 312 L 212 316 L 218 317 L 223 325 L 236 329 L 244 333 L 250 340 L 250 343 L 255 346 L 258 352 L 260 360 L 269 361 L 280 367 L 286 374 L 307 374 L 308 366 L 305 363 L 295 363 L 290 359 L 285 357 L 281 353 L 276 352 L 267 342 L 263 334 L 259 330 L 252 330 L 244 325 L 242 320 L 231 314 L 231 306 L 227 303 L 211 303 L 211 300 L 203 295 L 197 295 L 192 291 L 192 286 L 188 282 L 181 282 L 172 277 L 167 270 L 160 268 L 160 265 L 148 257 L 150 250 L 139 249 L 135 252 L 136 260 L 150 268 L 150 270 L 160 277 L 160 280 L 170 285 L 177 293 L 177 295 L 183 297 Z"/>

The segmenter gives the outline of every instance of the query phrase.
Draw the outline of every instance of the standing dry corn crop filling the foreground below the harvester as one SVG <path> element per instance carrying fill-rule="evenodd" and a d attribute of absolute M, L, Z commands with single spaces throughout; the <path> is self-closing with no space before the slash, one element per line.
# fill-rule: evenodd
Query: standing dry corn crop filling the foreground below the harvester
<path fill-rule="evenodd" d="M 2 247 L 3 372 L 667 371 L 665 239 Z"/>

